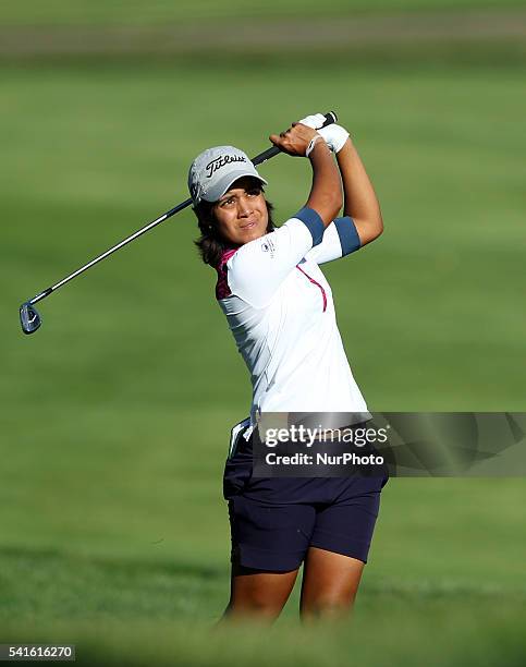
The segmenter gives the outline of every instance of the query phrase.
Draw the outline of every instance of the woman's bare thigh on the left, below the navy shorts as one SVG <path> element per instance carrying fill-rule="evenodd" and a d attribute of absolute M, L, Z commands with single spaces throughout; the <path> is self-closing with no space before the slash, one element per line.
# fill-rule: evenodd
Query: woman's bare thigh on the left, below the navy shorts
<path fill-rule="evenodd" d="M 230 603 L 223 619 L 274 620 L 289 599 L 297 572 L 297 569 L 291 572 L 265 572 L 232 566 Z"/>

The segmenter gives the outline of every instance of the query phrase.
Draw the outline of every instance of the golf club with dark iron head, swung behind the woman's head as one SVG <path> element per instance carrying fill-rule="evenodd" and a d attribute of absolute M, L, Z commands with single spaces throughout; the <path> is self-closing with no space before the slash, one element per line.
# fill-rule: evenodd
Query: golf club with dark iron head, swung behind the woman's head
<path fill-rule="evenodd" d="M 338 117 L 333 111 L 329 111 L 328 113 L 325 114 L 325 117 L 326 117 L 326 122 L 323 123 L 323 128 L 327 125 L 330 125 L 331 123 L 335 123 L 338 120 Z M 261 165 L 262 162 L 270 159 L 271 157 L 274 157 L 279 153 L 281 151 L 277 146 L 271 146 L 270 148 L 267 148 L 267 150 L 264 150 L 262 153 L 257 155 L 252 161 L 254 165 Z M 120 243 L 118 243 L 117 245 L 113 245 L 113 247 L 110 247 L 109 250 L 107 250 L 105 253 L 102 253 L 98 257 L 95 257 L 94 259 L 91 259 L 91 262 L 88 262 L 87 264 L 78 268 L 73 274 L 70 274 L 69 276 L 66 276 L 65 278 L 57 282 L 56 284 L 51 286 L 50 288 L 47 288 L 46 290 L 44 290 L 36 296 L 33 296 L 33 299 L 25 301 L 20 306 L 20 324 L 22 326 L 22 330 L 24 331 L 24 333 L 34 333 L 41 325 L 40 315 L 38 314 L 38 311 L 34 307 L 36 303 L 38 303 L 42 299 L 46 299 L 46 296 L 49 296 L 49 294 L 51 294 L 52 292 L 56 292 L 63 284 L 65 284 L 66 282 L 70 282 L 70 280 L 73 280 L 73 278 L 76 278 L 81 274 L 84 274 L 84 271 L 86 271 L 91 266 L 95 266 L 99 262 L 102 262 L 102 259 L 106 259 L 106 257 L 109 257 L 110 255 L 115 253 L 121 247 L 124 247 L 132 241 L 135 241 L 135 239 L 138 239 L 139 237 L 145 234 L 150 229 L 154 229 L 154 227 L 157 227 L 161 222 L 164 222 L 164 220 L 168 220 L 168 218 L 171 218 L 176 213 L 179 213 L 180 210 L 183 210 L 191 204 L 192 204 L 191 198 L 185 199 L 181 204 L 178 204 L 178 206 L 174 206 L 173 208 L 168 210 L 166 214 L 162 214 L 162 216 L 159 216 L 151 222 L 148 222 L 148 225 L 146 225 L 142 229 L 138 229 L 135 233 L 131 234 L 126 239 L 123 239 Z"/>

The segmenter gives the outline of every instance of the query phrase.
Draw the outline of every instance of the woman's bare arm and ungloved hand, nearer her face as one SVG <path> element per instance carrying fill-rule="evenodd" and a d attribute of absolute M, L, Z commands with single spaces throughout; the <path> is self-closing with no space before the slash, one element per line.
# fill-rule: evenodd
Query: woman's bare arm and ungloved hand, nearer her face
<path fill-rule="evenodd" d="M 290 130 L 279 136 L 272 134 L 270 141 L 289 155 L 305 156 L 310 141 L 316 135 L 316 130 L 293 123 Z M 338 216 L 343 203 L 340 174 L 322 137 L 316 141 L 308 157 L 313 167 L 313 185 L 305 206 L 316 210 L 323 226 L 328 227 Z"/>

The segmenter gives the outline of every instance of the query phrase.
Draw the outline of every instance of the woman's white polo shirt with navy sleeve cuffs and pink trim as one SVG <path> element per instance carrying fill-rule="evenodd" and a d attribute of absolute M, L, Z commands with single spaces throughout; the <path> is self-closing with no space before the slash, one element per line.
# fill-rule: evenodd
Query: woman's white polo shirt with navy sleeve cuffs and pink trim
<path fill-rule="evenodd" d="M 223 254 L 216 295 L 250 373 L 250 419 L 265 412 L 367 413 L 320 264 L 359 247 L 351 218 L 326 230 L 304 208 Z"/>

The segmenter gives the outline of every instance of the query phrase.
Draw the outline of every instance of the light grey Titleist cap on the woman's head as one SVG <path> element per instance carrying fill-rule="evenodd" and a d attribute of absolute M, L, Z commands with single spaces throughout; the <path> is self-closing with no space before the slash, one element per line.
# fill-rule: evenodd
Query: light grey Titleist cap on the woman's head
<path fill-rule="evenodd" d="M 201 199 L 217 202 L 232 185 L 243 177 L 254 177 L 264 185 L 262 179 L 246 153 L 234 146 L 215 146 L 200 153 L 192 162 L 188 171 L 188 190 L 194 204 Z"/>

